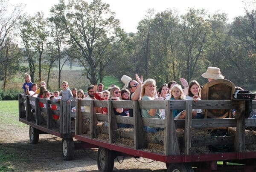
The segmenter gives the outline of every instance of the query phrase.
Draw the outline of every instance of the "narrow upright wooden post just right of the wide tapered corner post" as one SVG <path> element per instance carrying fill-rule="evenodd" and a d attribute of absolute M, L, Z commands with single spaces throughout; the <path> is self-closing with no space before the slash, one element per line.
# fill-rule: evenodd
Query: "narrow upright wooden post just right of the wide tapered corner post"
<path fill-rule="evenodd" d="M 193 100 L 186 100 L 186 119 L 184 130 L 185 155 L 190 155 L 191 151 L 192 102 Z"/>

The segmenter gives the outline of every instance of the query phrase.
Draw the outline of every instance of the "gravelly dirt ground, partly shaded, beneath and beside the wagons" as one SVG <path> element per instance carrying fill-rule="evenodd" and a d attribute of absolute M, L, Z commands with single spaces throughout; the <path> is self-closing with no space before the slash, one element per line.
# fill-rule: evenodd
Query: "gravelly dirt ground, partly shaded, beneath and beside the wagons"
<path fill-rule="evenodd" d="M 61 139 L 53 135 L 40 135 L 39 142 L 29 142 L 29 126 L 18 127 L 0 121 L 0 149 L 10 155 L 12 161 L 4 164 L 15 171 L 90 171 L 96 172 L 97 149 L 76 150 L 72 161 L 64 161 L 61 155 Z M 122 157 L 120 157 L 122 159 Z M 151 160 L 140 161 L 149 162 Z M 140 163 L 134 158 L 125 158 L 123 163 L 115 161 L 115 172 L 166 172 L 165 163 Z"/>

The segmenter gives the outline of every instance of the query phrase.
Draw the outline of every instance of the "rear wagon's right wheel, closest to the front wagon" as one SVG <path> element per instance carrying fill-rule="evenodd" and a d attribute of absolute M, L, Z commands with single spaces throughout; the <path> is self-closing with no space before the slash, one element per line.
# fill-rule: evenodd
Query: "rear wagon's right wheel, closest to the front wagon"
<path fill-rule="evenodd" d="M 74 158 L 75 145 L 73 138 L 63 138 L 61 144 L 61 152 L 63 159 L 70 161 Z"/>

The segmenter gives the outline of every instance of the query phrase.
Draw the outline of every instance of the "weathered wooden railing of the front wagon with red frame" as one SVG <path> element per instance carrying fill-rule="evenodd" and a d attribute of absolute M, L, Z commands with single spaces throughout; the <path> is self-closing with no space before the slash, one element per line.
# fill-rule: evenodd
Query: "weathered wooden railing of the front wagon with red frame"
<path fill-rule="evenodd" d="M 144 101 L 100 101 L 100 100 L 77 100 L 76 111 L 76 135 L 79 138 L 96 138 L 96 122 L 106 121 L 108 126 L 108 143 L 114 143 L 113 135 L 115 135 L 117 123 L 125 123 L 133 125 L 133 132 L 122 134 L 126 138 L 134 141 L 133 149 L 146 148 L 146 137 L 143 126 L 164 128 L 164 136 L 158 136 L 158 140 L 163 141 L 163 155 L 180 155 L 181 147 L 184 148 L 184 155 L 192 155 L 192 146 L 209 146 L 212 144 L 230 144 L 234 146 L 234 151 L 241 153 L 245 151 L 245 144 L 256 143 L 256 136 L 253 141 L 245 137 L 245 127 L 256 126 L 256 119 L 247 119 L 247 107 L 250 104 L 252 109 L 256 109 L 256 100 L 199 100 L 195 103 L 193 100 L 144 100 Z M 81 106 L 90 106 L 90 112 L 81 112 Z M 109 115 L 97 114 L 95 107 L 108 107 Z M 134 117 L 116 116 L 113 108 L 133 109 Z M 142 118 L 140 109 L 166 109 L 166 119 Z M 186 109 L 186 119 L 174 120 L 172 109 Z M 192 119 L 192 109 L 240 109 L 238 118 L 224 119 Z M 84 120 L 90 120 L 90 135 L 84 135 Z M 207 138 L 198 138 L 192 140 L 192 128 L 209 129 L 218 127 L 236 127 L 234 136 L 216 136 Z M 177 138 L 176 129 L 184 129 L 184 139 Z M 81 137 L 80 137 L 81 136 Z M 106 140 L 107 141 L 107 140 Z M 182 143 L 181 143 L 182 142 Z M 256 150 L 256 149 L 255 149 Z M 255 151 L 253 150 L 253 152 Z M 189 161 L 189 160 L 188 160 Z"/>

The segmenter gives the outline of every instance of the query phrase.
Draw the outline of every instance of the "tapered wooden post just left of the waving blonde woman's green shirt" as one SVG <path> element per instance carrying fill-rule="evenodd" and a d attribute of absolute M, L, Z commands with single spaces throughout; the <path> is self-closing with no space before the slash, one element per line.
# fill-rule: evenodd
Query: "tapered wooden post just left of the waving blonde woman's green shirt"
<path fill-rule="evenodd" d="M 134 149 L 142 149 L 148 146 L 139 107 L 138 101 L 133 101 Z"/>

